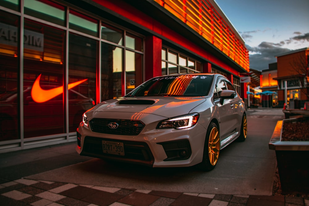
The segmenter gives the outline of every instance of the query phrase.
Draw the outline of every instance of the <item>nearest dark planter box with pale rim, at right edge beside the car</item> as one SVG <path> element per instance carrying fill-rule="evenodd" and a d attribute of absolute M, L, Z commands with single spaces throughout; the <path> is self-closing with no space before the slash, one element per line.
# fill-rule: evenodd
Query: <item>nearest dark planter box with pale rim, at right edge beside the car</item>
<path fill-rule="evenodd" d="M 298 124 L 298 121 L 303 121 L 304 118 L 308 117 L 278 121 L 269 142 L 269 149 L 276 151 L 283 195 L 309 194 L 309 141 L 282 141 L 281 138 L 285 122 L 294 123 L 296 127 L 299 125 L 297 132 L 307 133 L 308 131 L 302 130 L 301 124 Z"/>

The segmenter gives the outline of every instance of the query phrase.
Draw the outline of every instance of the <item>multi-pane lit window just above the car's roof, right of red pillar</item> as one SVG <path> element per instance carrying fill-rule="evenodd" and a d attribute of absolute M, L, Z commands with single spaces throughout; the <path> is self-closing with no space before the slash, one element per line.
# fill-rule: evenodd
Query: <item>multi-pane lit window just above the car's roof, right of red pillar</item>
<path fill-rule="evenodd" d="M 162 48 L 162 75 L 198 73 L 202 70 L 202 64 L 183 54 Z"/>

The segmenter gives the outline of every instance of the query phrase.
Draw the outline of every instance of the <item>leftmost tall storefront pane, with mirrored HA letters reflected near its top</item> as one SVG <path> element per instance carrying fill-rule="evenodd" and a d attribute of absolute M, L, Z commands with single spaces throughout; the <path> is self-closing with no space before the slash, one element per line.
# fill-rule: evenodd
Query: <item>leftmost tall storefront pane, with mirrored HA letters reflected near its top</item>
<path fill-rule="evenodd" d="M 0 19 L 0 141 L 7 141 L 19 139 L 19 17 L 0 11 Z"/>

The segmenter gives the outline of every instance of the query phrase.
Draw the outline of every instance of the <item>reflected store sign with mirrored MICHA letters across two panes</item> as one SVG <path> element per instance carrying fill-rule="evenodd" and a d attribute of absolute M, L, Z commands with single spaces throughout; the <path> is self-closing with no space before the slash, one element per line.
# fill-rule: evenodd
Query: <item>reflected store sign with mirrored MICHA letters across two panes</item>
<path fill-rule="evenodd" d="M 6 44 L 17 47 L 18 41 L 18 29 L 17 27 L 0 23 L 0 44 Z M 23 34 L 24 48 L 44 51 L 44 34 L 24 30 Z"/>

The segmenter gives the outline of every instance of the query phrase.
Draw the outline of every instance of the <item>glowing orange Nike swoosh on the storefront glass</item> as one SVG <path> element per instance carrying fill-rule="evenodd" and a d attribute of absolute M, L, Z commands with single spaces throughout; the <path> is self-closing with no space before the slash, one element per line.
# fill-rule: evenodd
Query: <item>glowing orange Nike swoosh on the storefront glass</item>
<path fill-rule="evenodd" d="M 33 101 L 37 103 L 46 102 L 49 99 L 53 99 L 54 97 L 60 95 L 63 92 L 63 86 L 59 86 L 53 89 L 44 90 L 40 86 L 40 77 L 41 74 L 36 78 L 36 81 L 34 82 L 32 89 L 31 89 L 31 96 Z M 80 80 L 78 82 L 73 82 L 68 84 L 68 89 L 72 89 L 74 86 L 77 86 L 83 82 L 85 82 L 87 79 Z"/>

